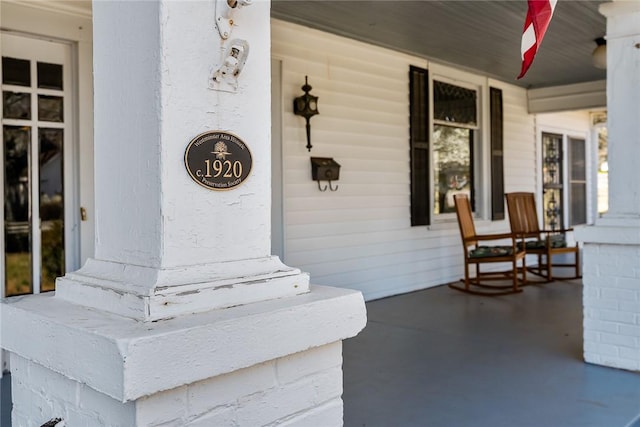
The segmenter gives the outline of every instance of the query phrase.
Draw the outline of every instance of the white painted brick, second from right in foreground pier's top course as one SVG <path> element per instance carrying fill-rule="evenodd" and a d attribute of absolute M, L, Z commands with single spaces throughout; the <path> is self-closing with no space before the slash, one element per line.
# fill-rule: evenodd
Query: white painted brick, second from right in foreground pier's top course
<path fill-rule="evenodd" d="M 265 362 L 230 374 L 191 384 L 188 388 L 189 415 L 199 416 L 256 391 L 277 385 L 275 362 Z"/>

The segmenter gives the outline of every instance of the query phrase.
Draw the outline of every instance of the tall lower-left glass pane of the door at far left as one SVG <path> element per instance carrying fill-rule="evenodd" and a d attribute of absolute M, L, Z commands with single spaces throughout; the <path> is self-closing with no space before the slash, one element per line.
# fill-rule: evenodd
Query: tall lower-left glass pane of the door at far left
<path fill-rule="evenodd" d="M 31 293 L 30 142 L 28 126 L 4 126 L 5 294 Z"/>

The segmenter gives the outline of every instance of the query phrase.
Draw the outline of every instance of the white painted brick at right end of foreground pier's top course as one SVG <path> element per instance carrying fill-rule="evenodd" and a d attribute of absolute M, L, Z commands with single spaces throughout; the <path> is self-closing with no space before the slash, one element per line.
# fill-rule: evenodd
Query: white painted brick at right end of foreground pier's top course
<path fill-rule="evenodd" d="M 277 360 L 278 381 L 286 384 L 318 371 L 342 366 L 342 342 L 325 345 Z"/>

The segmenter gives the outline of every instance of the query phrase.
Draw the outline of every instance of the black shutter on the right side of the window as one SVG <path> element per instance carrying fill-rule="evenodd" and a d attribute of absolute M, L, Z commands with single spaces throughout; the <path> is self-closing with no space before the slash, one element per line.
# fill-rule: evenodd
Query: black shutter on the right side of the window
<path fill-rule="evenodd" d="M 490 88 L 491 103 L 491 219 L 504 219 L 504 129 L 502 90 Z"/>

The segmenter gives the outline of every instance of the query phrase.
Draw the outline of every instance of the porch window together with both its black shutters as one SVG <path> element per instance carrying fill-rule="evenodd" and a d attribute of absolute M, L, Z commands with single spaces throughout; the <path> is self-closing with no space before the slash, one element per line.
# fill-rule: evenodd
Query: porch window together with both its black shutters
<path fill-rule="evenodd" d="M 504 219 L 502 91 L 489 88 L 485 117 L 490 118 L 486 149 L 491 164 L 480 164 L 485 149 L 482 88 L 444 80 L 430 79 L 428 71 L 418 67 L 409 71 L 411 225 L 430 225 L 434 218 L 450 216 L 456 193 L 469 194 L 475 209 L 483 170 L 490 170 L 491 182 L 483 185 L 486 200 L 480 202 L 491 207 L 491 219 Z"/>

